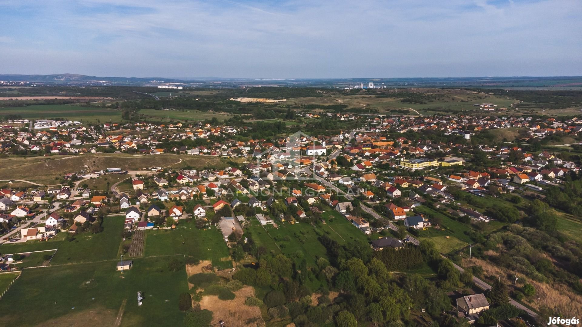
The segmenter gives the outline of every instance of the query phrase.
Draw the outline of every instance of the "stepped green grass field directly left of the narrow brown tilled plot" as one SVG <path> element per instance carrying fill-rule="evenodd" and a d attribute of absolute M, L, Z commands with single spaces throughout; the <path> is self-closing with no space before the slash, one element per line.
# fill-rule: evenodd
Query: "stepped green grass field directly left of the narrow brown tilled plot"
<path fill-rule="evenodd" d="M 63 241 L 51 265 L 72 262 L 115 260 L 122 239 L 125 216 L 109 216 L 103 219 L 103 232 L 79 234 L 74 241 Z"/>

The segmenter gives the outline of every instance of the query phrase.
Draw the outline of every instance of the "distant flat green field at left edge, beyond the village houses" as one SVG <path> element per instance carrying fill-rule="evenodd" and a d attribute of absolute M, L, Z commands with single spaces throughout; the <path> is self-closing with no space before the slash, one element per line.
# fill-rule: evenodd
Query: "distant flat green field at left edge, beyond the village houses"
<path fill-rule="evenodd" d="M 120 111 L 108 108 L 87 108 L 76 105 L 29 105 L 0 108 L 0 116 L 13 114 L 26 119 L 66 118 L 79 122 L 120 122 L 122 120 Z"/>

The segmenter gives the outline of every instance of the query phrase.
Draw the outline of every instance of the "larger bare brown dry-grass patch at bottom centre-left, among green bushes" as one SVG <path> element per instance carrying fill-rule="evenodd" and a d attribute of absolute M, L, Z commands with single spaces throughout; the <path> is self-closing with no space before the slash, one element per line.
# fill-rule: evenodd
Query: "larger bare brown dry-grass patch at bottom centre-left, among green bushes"
<path fill-rule="evenodd" d="M 234 300 L 223 301 L 218 296 L 204 296 L 200 301 L 200 308 L 207 309 L 214 313 L 212 326 L 218 325 L 219 321 L 224 321 L 226 326 L 265 326 L 262 320 L 261 309 L 250 307 L 244 304 L 244 301 L 254 296 L 254 289 L 251 286 L 245 286 L 235 293 Z"/>

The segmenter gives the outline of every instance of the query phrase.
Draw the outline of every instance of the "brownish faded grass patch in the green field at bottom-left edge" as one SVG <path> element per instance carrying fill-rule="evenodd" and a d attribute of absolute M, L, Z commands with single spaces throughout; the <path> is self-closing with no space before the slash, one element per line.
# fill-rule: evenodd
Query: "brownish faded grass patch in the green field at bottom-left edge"
<path fill-rule="evenodd" d="M 91 310 L 76 311 L 63 315 L 62 317 L 49 319 L 38 324 L 40 326 L 58 327 L 90 327 L 90 326 L 113 326 L 118 312 L 116 310 L 97 307 Z"/>

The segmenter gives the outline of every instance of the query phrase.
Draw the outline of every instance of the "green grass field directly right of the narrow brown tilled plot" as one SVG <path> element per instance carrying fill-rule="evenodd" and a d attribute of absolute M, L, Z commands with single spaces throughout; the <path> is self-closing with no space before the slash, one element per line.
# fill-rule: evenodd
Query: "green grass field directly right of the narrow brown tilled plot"
<path fill-rule="evenodd" d="M 230 252 L 222 233 L 212 226 L 207 230 L 196 228 L 195 222 L 181 221 L 174 230 L 148 230 L 144 255 L 189 255 L 197 260 L 211 260 L 219 269 L 232 268 Z"/>

